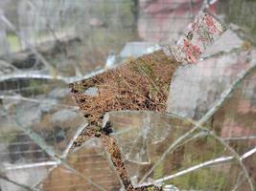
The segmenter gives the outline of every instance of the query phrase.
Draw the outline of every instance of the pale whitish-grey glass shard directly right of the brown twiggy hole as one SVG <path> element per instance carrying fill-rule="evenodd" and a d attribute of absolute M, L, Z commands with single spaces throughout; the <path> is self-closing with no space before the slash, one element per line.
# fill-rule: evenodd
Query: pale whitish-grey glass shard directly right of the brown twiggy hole
<path fill-rule="evenodd" d="M 178 68 L 171 83 L 167 112 L 195 119 L 203 117 L 255 61 L 256 52 L 252 50 L 210 57 Z"/>

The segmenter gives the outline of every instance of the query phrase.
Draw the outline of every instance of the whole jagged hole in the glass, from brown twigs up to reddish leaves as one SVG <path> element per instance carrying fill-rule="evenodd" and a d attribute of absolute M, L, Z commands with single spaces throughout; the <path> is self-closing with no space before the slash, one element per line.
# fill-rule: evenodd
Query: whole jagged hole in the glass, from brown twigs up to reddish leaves
<path fill-rule="evenodd" d="M 169 83 L 181 62 L 194 63 L 225 31 L 221 23 L 200 11 L 176 46 L 130 59 L 123 66 L 70 84 L 84 117 L 101 126 L 113 110 L 165 111 Z M 138 81 L 140 83 L 138 83 Z M 88 94 L 97 90 L 98 94 Z"/>

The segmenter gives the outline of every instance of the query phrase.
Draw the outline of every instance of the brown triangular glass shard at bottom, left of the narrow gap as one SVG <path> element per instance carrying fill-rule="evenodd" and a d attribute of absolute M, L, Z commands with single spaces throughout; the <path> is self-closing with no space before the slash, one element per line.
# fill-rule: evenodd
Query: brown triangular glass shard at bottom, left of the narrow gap
<path fill-rule="evenodd" d="M 40 188 L 42 191 L 118 191 L 122 184 L 112 165 L 101 139 L 90 138 L 54 168 L 42 181 Z"/>

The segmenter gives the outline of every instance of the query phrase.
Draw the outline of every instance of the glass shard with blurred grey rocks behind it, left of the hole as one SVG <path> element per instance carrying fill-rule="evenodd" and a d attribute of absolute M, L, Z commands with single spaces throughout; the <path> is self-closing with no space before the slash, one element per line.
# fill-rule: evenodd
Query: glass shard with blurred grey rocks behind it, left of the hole
<path fill-rule="evenodd" d="M 31 98 L 7 96 L 4 107 L 8 108 L 1 121 L 1 129 L 5 131 L 13 126 L 20 131 L 27 131 L 26 137 L 35 134 L 41 138 L 42 144 L 52 147 L 58 156 L 65 155 L 66 149 L 70 149 L 68 147 L 72 139 L 85 128 L 86 121 L 74 104 L 67 100 L 67 93 L 61 98 L 52 98 L 58 96 L 57 90 L 54 90 L 55 93 L 51 91 L 47 96 Z M 8 137 L 5 134 L 4 136 Z"/>

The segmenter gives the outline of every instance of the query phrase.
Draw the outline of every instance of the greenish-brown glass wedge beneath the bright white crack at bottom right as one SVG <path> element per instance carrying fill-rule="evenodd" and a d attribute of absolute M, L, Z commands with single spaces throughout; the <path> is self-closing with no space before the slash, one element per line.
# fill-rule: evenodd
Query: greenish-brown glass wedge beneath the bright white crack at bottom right
<path fill-rule="evenodd" d="M 167 178 L 170 180 L 164 182 L 172 182 L 180 190 L 250 190 L 238 162 L 220 162 L 174 179 Z"/>

